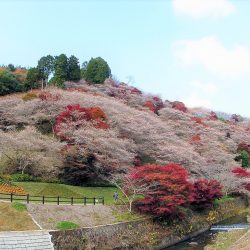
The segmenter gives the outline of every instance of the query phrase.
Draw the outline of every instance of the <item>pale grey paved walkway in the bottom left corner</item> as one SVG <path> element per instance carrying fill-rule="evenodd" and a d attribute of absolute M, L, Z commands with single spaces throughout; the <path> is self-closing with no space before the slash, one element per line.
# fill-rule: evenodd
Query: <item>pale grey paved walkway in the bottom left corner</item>
<path fill-rule="evenodd" d="M 1 250 L 53 250 L 47 231 L 0 232 Z"/>

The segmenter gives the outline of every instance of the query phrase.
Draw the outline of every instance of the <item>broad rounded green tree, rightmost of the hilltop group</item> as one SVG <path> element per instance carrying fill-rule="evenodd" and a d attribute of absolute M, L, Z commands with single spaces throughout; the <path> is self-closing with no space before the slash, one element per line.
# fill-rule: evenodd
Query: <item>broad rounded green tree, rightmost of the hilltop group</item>
<path fill-rule="evenodd" d="M 101 57 L 91 58 L 85 72 L 85 80 L 91 83 L 103 83 L 111 76 L 111 69 Z"/>

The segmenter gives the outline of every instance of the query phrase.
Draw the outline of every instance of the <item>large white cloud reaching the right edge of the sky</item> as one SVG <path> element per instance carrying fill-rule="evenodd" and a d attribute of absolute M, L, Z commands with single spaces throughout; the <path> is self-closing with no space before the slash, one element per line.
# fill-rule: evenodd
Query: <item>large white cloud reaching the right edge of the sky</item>
<path fill-rule="evenodd" d="M 201 65 L 209 73 L 239 76 L 250 71 L 250 49 L 246 46 L 225 48 L 215 37 L 182 40 L 174 44 L 174 54 L 180 63 Z"/>

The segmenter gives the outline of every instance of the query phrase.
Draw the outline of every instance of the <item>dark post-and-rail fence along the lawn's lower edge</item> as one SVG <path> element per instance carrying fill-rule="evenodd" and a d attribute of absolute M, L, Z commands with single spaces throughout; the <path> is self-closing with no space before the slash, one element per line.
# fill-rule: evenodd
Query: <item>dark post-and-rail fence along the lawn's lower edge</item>
<path fill-rule="evenodd" d="M 102 204 L 104 205 L 104 197 L 59 197 L 59 196 L 35 196 L 29 194 L 14 194 L 14 193 L 0 193 L 0 200 L 9 200 L 10 202 L 13 201 L 24 201 L 26 203 L 35 202 L 35 203 L 56 203 L 57 205 L 60 204 Z"/>

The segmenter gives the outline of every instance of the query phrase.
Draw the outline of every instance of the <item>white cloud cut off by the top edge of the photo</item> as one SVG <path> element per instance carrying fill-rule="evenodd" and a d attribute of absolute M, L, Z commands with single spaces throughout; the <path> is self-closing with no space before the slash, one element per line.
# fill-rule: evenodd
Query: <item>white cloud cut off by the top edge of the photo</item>
<path fill-rule="evenodd" d="M 203 17 L 224 17 L 235 11 L 228 0 L 173 0 L 176 14 L 199 19 Z"/>

